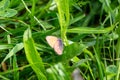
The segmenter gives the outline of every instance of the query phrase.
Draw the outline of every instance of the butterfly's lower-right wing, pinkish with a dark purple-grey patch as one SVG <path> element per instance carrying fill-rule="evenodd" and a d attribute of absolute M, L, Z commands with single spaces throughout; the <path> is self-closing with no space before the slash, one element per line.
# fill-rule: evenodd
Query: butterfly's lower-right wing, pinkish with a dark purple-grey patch
<path fill-rule="evenodd" d="M 62 55 L 62 52 L 63 52 L 63 43 L 62 43 L 62 40 L 61 40 L 61 39 L 58 39 L 58 40 L 55 42 L 54 51 L 55 51 L 58 55 Z"/>

